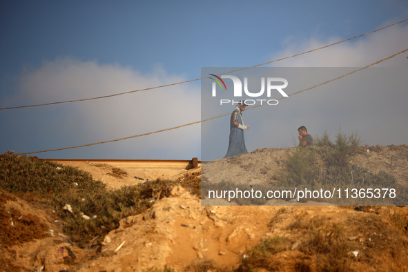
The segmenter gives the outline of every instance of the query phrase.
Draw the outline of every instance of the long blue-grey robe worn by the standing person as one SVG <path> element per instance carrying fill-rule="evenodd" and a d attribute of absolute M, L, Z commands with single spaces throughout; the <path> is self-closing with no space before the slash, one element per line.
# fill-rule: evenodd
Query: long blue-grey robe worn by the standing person
<path fill-rule="evenodd" d="M 228 151 L 226 152 L 225 157 L 234 157 L 242 153 L 248 153 L 248 150 L 246 150 L 245 146 L 245 139 L 244 139 L 244 130 L 241 128 L 237 128 L 234 126 L 234 113 L 237 113 L 235 117 L 235 121 L 238 122 L 238 124 L 244 125 L 244 122 L 242 121 L 242 116 L 240 114 L 240 110 L 238 108 L 235 108 L 233 113 L 231 114 L 231 121 L 230 121 L 230 129 L 229 129 L 229 146 L 228 146 Z"/>

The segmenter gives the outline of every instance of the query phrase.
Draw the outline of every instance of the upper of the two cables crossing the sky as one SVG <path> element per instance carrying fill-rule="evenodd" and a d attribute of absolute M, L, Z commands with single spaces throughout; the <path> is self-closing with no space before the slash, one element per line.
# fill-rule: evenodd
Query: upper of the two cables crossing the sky
<path fill-rule="evenodd" d="M 408 19 L 399 21 L 398 23 L 403 23 L 403 22 L 405 22 L 405 21 L 408 21 Z M 327 46 L 322 46 L 322 47 L 320 47 L 320 48 L 315 48 L 315 49 L 312 49 L 312 50 L 309 50 L 309 51 L 306 51 L 306 52 L 302 52 L 302 53 L 299 53 L 299 54 L 296 54 L 296 55 L 292 55 L 292 56 L 289 56 L 289 57 L 284 57 L 284 58 L 282 58 L 282 59 L 275 59 L 275 60 L 273 60 L 273 61 L 264 62 L 263 64 L 256 64 L 256 65 L 254 65 L 254 66 L 249 66 L 249 67 L 245 67 L 245 68 L 240 68 L 240 69 L 237 69 L 237 70 L 229 71 L 229 72 L 227 72 L 227 73 L 237 72 L 237 71 L 239 71 L 239 70 L 245 70 L 245 69 L 249 69 L 249 68 L 253 68 L 253 67 L 258 67 L 258 66 L 263 66 L 263 65 L 265 65 L 265 64 L 271 64 L 271 63 L 276 62 L 276 61 L 282 61 L 282 60 L 284 60 L 284 59 L 290 59 L 291 57 L 298 57 L 298 56 L 300 56 L 300 55 L 304 55 L 304 54 L 307 54 L 307 53 L 310 53 L 310 52 L 313 52 L 313 51 L 317 51 L 317 50 L 320 50 L 320 49 L 323 49 L 323 48 L 328 48 L 328 47 L 330 47 L 330 46 L 334 46 L 334 45 L 339 44 L 339 43 L 343 43 L 344 41 L 350 41 L 350 40 L 356 39 L 356 38 L 358 38 L 358 37 L 362 37 L 362 36 L 365 36 L 365 35 L 369 35 L 369 34 L 371 34 L 371 33 L 373 33 L 373 32 L 377 32 L 377 31 L 380 31 L 380 30 L 384 30 L 385 28 L 389 28 L 389 27 L 391 27 L 391 26 L 396 26 L 396 25 L 398 25 L 398 23 L 393 23 L 393 24 L 391 24 L 391 25 L 389 25 L 389 26 L 385 26 L 384 28 L 378 28 L 377 30 L 373 30 L 373 31 L 371 31 L 371 32 L 367 32 L 367 33 L 365 33 L 365 34 L 358 35 L 358 36 L 356 36 L 356 37 L 352 37 L 352 38 L 349 38 L 349 39 L 344 39 L 344 40 L 338 41 L 338 42 L 336 42 L 336 43 L 331 43 L 331 44 L 329 44 L 329 45 L 327 45 Z M 59 102 L 51 102 L 51 103 L 36 104 L 36 105 L 27 105 L 27 106 L 15 106 L 15 107 L 8 107 L 8 108 L 0 108 L 0 110 L 11 110 L 11 109 L 13 109 L 13 108 L 30 108 L 30 107 L 38 107 L 38 106 L 48 106 L 48 105 L 55 105 L 55 104 L 63 104 L 63 103 L 70 103 L 70 102 L 88 101 L 88 100 L 102 99 L 102 98 L 108 98 L 108 97 L 115 97 L 115 96 L 118 96 L 118 95 L 126 95 L 126 94 L 129 94 L 129 93 L 137 93 L 137 92 L 140 92 L 140 91 L 142 91 L 142 90 L 153 90 L 153 89 L 156 89 L 156 88 L 163 88 L 163 87 L 168 87 L 168 86 L 175 86 L 175 85 L 184 84 L 184 83 L 193 82 L 193 81 L 198 81 L 198 80 L 202 80 L 202 79 L 206 79 L 206 78 L 208 78 L 208 77 L 202 77 L 202 78 L 200 78 L 200 79 L 191 79 L 191 80 L 182 81 L 182 82 L 177 82 L 177 83 L 173 83 L 173 84 L 166 84 L 166 85 L 162 85 L 162 86 L 155 86 L 155 87 L 144 88 L 144 89 L 139 89 L 139 90 L 130 90 L 130 91 L 124 92 L 124 93 L 116 93 L 116 94 L 113 94 L 113 95 L 104 95 L 104 96 L 101 96 L 101 97 L 91 97 L 91 98 L 85 98 L 85 99 L 59 101 Z"/>

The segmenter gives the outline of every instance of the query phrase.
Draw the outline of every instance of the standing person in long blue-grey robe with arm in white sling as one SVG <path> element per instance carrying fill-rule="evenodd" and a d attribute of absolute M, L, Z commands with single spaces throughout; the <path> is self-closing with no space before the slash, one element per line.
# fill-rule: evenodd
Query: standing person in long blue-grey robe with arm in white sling
<path fill-rule="evenodd" d="M 242 112 L 245 108 L 245 101 L 241 100 L 231 114 L 229 146 L 225 157 L 234 157 L 242 153 L 248 153 L 245 146 L 244 130 L 249 129 L 249 126 L 245 126 L 242 120 Z"/>

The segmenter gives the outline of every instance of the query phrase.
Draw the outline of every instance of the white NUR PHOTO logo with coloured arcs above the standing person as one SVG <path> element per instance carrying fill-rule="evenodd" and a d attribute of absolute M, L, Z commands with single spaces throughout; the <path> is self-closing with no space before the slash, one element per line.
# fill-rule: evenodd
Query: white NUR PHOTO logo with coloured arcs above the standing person
<path fill-rule="evenodd" d="M 220 86 L 221 90 L 226 91 L 226 84 L 224 80 L 222 79 L 231 79 L 233 83 L 233 97 L 237 97 L 237 101 L 234 101 L 232 99 L 220 99 L 220 105 L 222 104 L 237 104 L 238 101 L 241 100 L 242 98 L 242 81 L 240 78 L 235 77 L 233 75 L 221 75 L 221 77 L 218 77 L 217 75 L 214 74 L 209 74 L 213 77 L 210 77 L 210 79 L 213 79 L 213 84 L 212 84 L 212 96 L 216 97 L 217 96 L 217 84 Z M 272 95 L 272 93 L 278 91 L 282 97 L 289 97 L 289 95 L 286 95 L 284 92 L 284 88 L 288 86 L 288 81 L 282 77 L 261 77 L 260 78 L 260 90 L 254 91 L 254 90 L 249 90 L 249 83 L 248 83 L 248 77 L 244 77 L 244 94 L 248 97 L 258 97 L 262 98 L 265 97 L 265 90 L 266 90 L 266 97 L 267 99 L 246 99 L 245 103 L 249 106 L 253 106 L 257 104 L 258 102 L 260 104 L 267 103 L 269 105 L 278 105 L 278 100 L 276 99 L 269 99 Z M 265 88 L 266 85 L 266 88 Z"/>

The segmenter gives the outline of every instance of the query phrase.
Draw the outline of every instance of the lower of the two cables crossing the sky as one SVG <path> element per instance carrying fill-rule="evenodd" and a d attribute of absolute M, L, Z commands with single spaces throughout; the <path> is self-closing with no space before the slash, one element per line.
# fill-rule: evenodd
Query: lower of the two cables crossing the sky
<path fill-rule="evenodd" d="M 345 74 L 345 75 L 341 75 L 340 77 L 336 77 L 336 78 L 334 78 L 334 79 L 331 79 L 331 80 L 329 80 L 329 81 L 324 81 L 323 83 L 318 84 L 318 85 L 315 85 L 315 86 L 312 86 L 312 87 L 310 87 L 310 88 L 306 88 L 306 89 L 300 90 L 300 91 L 298 91 L 298 92 L 296 92 L 296 93 L 293 93 L 293 94 L 289 95 L 288 97 L 291 97 L 291 96 L 293 96 L 293 95 L 298 95 L 299 93 L 305 92 L 305 91 L 307 91 L 307 90 L 311 90 L 311 89 L 316 88 L 316 87 L 318 87 L 318 86 L 322 86 L 322 85 L 324 85 L 324 84 L 328 84 L 328 83 L 331 82 L 331 81 L 335 81 L 335 80 L 337 80 L 337 79 L 341 79 L 342 77 L 346 77 L 347 75 L 351 75 L 351 74 L 353 74 L 353 73 L 355 73 L 355 72 L 359 72 L 359 71 L 361 71 L 361 70 L 364 70 L 364 69 L 366 69 L 366 68 L 369 68 L 369 67 L 371 67 L 371 66 L 374 66 L 374 65 L 376 65 L 376 64 L 379 64 L 379 63 L 382 62 L 382 61 L 386 61 L 387 59 L 391 59 L 391 58 L 393 58 L 393 57 L 396 57 L 397 55 L 400 55 L 400 54 L 402 54 L 403 52 L 407 52 L 407 51 L 408 51 L 408 48 L 405 49 L 405 50 L 402 50 L 401 52 L 398 52 L 398 53 L 396 53 L 396 54 L 394 54 L 394 55 L 391 55 L 390 57 L 387 57 L 387 58 L 385 58 L 385 59 L 381 59 L 380 61 L 376 61 L 376 62 L 374 62 L 373 64 L 369 64 L 369 65 L 367 65 L 367 66 L 365 66 L 365 67 L 363 67 L 363 68 L 360 68 L 360 69 L 357 69 L 357 70 L 353 70 L 352 72 L 349 72 L 349 73 L 347 73 L 347 74 Z M 287 97 L 281 97 L 281 98 L 276 99 L 276 100 L 280 100 L 280 99 L 284 99 L 284 98 L 287 98 Z M 266 104 L 266 103 L 264 103 L 264 104 Z M 250 110 L 250 109 L 252 109 L 252 108 L 257 108 L 257 107 L 259 107 L 259 106 L 263 106 L 264 104 L 260 104 L 260 105 L 258 105 L 258 106 L 253 106 L 253 107 L 247 108 L 246 110 Z M 144 133 L 144 134 L 134 135 L 134 136 L 130 136 L 130 137 L 124 137 L 124 138 L 120 138 L 120 139 L 113 139 L 113 140 L 105 141 L 105 142 L 97 142 L 97 143 L 93 143 L 93 144 L 83 144 L 83 145 L 81 145 L 81 146 L 70 146 L 70 147 L 65 147 L 65 148 L 41 150 L 41 151 L 35 151 L 35 152 L 17 153 L 16 155 L 27 155 L 27 154 L 33 154 L 33 153 L 42 153 L 42 152 L 57 151 L 57 150 L 64 150 L 64 149 L 70 149 L 70 148 L 78 148 L 78 147 L 84 147 L 84 146 L 94 146 L 94 145 L 96 145 L 96 144 L 106 144 L 106 143 L 110 143 L 110 142 L 117 142 L 117 141 L 122 141 L 122 140 L 124 140 L 124 139 L 131 139 L 131 138 L 135 138 L 135 137 L 141 137 L 141 136 L 146 136 L 146 135 L 150 135 L 150 134 L 161 133 L 161 132 L 164 132 L 164 131 L 167 131 L 167 130 L 173 130 L 173 129 L 176 129 L 176 128 L 182 128 L 182 127 L 184 127 L 184 126 L 191 126 L 191 125 L 193 125 L 193 124 L 199 124 L 199 123 L 202 123 L 202 122 L 209 121 L 209 120 L 211 120 L 211 119 L 216 119 L 216 118 L 219 118 L 219 117 L 224 117 L 224 116 L 226 116 L 226 115 L 231 115 L 231 113 L 226 113 L 226 114 L 224 114 L 224 115 L 218 115 L 218 116 L 211 117 L 211 118 L 208 118 L 208 119 L 204 119 L 204 120 L 201 120 L 201 121 L 197 121 L 197 122 L 193 122 L 193 123 L 189 123 L 189 124 L 184 124 L 184 125 L 182 125 L 182 126 L 175 126 L 175 127 L 173 127 L 173 128 L 165 128 L 165 129 L 157 130 L 157 131 L 154 131 L 154 132 L 151 132 L 151 133 Z"/>

